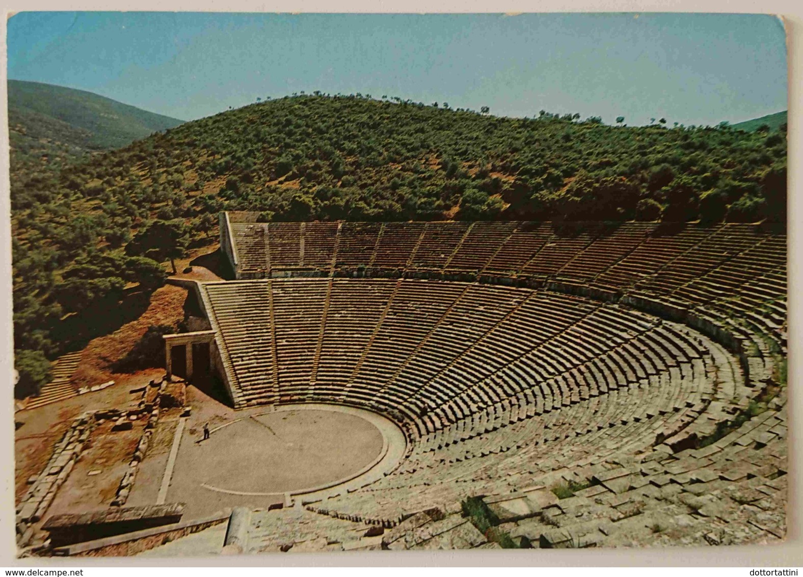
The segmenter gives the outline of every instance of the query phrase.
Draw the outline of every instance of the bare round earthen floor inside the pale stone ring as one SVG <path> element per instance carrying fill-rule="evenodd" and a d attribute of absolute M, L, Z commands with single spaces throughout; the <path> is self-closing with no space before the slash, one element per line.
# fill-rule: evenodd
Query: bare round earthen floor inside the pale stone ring
<path fill-rule="evenodd" d="M 289 410 L 250 415 L 213 429 L 199 449 L 207 489 L 285 493 L 360 473 L 380 456 L 383 436 L 369 420 L 341 411 Z"/>

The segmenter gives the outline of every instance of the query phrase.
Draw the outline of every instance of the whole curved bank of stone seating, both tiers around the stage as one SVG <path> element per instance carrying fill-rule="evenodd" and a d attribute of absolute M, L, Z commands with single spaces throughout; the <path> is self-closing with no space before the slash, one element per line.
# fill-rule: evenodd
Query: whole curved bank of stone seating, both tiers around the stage
<path fill-rule="evenodd" d="M 629 491 L 663 491 L 662 456 L 696 450 L 785 362 L 772 227 L 250 218 L 226 232 L 242 280 L 199 285 L 235 406 L 365 407 L 409 440 L 393 473 L 315 505 L 345 518 L 628 467 Z"/>

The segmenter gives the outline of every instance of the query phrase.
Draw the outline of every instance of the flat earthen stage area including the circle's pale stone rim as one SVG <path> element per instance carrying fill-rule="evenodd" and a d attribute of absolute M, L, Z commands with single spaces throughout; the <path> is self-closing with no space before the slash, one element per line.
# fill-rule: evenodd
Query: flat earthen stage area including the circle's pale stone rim
<path fill-rule="evenodd" d="M 304 403 L 233 416 L 213 425 L 209 440 L 193 417 L 183 430 L 166 502 L 184 503 L 187 518 L 317 502 L 381 479 L 406 454 L 396 424 L 357 407 Z"/>

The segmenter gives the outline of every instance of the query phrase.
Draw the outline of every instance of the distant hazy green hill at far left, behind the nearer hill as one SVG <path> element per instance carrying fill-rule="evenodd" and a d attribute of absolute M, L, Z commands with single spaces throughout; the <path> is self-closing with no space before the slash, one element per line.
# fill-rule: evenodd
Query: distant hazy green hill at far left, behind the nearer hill
<path fill-rule="evenodd" d="M 58 168 L 88 151 L 128 145 L 182 121 L 92 92 L 8 81 L 12 174 Z M 14 174 L 17 176 L 17 174 Z"/>

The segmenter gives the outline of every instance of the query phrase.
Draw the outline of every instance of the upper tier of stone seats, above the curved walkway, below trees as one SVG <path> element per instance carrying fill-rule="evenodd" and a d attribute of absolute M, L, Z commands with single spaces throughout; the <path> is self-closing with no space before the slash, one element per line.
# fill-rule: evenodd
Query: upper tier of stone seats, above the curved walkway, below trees
<path fill-rule="evenodd" d="M 725 223 L 256 223 L 229 213 L 237 277 L 404 276 L 562 284 L 786 329 L 786 234 Z M 229 246 L 224 243 L 224 246 Z M 733 325 L 732 319 L 740 321 Z M 760 343 L 759 343 L 760 344 Z"/>

